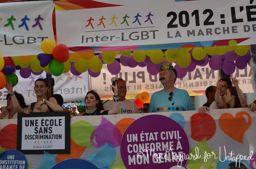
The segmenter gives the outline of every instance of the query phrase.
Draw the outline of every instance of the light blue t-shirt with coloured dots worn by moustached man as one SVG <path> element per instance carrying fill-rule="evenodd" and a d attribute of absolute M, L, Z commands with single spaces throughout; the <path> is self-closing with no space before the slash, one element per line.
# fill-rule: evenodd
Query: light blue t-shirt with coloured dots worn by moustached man
<path fill-rule="evenodd" d="M 172 94 L 172 100 L 169 92 L 164 89 L 154 92 L 150 99 L 149 112 L 173 112 L 196 110 L 186 90 L 176 88 Z"/>

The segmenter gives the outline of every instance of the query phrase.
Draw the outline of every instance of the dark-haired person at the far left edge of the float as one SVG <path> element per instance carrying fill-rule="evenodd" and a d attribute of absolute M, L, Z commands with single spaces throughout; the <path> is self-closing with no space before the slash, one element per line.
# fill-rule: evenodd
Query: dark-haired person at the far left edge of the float
<path fill-rule="evenodd" d="M 2 111 L 0 114 L 0 119 L 12 119 L 17 118 L 17 112 L 23 112 L 24 108 L 26 107 L 26 103 L 24 101 L 24 97 L 22 94 L 17 92 L 10 92 L 6 96 L 7 106 L 6 110 Z M 18 102 L 19 106 L 16 106 Z"/>

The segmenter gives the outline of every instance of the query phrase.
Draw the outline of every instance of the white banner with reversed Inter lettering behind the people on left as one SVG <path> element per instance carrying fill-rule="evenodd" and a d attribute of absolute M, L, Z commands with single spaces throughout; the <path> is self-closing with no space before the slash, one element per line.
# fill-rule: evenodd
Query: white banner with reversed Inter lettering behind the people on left
<path fill-rule="evenodd" d="M 27 105 L 36 102 L 36 94 L 34 93 L 34 83 L 36 79 L 46 78 L 46 73 L 39 76 L 32 75 L 28 79 L 20 77 L 19 71 L 16 71 L 19 82 L 14 86 L 16 92 L 22 94 Z M 74 76 L 70 72 L 54 77 L 54 94 L 60 94 L 64 102 L 84 100 L 86 93 L 89 91 L 89 75 L 82 73 L 80 76 Z M 0 90 L 0 106 L 6 106 L 6 95 L 8 91 L 4 88 Z"/>

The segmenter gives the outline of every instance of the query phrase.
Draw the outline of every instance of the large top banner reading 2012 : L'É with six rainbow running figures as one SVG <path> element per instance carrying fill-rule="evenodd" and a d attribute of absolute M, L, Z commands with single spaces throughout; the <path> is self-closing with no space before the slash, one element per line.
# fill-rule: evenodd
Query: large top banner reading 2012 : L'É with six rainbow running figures
<path fill-rule="evenodd" d="M 229 39 L 256 43 L 252 0 L 109 0 L 89 7 L 88 0 L 71 2 L 70 8 L 61 0 L 55 5 L 57 41 L 72 51 L 228 45 Z"/>

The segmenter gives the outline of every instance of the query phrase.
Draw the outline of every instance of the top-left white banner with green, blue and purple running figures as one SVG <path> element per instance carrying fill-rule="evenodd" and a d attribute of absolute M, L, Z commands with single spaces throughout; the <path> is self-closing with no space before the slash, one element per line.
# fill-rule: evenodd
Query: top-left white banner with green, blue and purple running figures
<path fill-rule="evenodd" d="M 54 2 L 0 3 L 0 55 L 24 56 L 42 53 L 44 39 L 54 41 Z"/>

